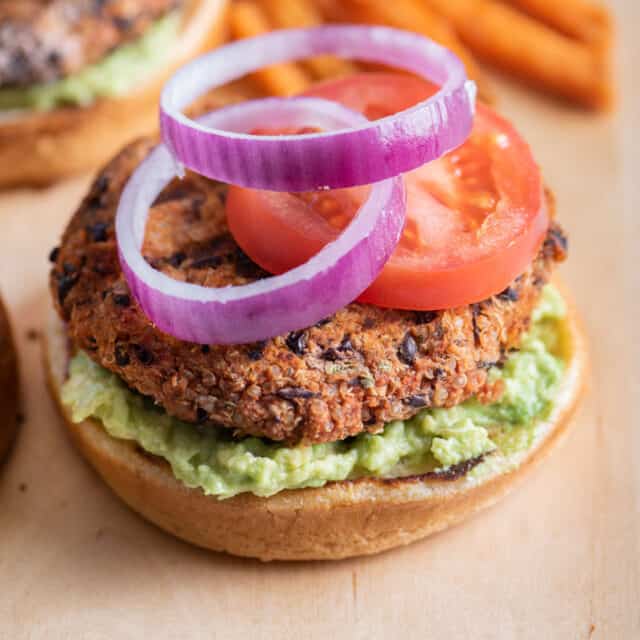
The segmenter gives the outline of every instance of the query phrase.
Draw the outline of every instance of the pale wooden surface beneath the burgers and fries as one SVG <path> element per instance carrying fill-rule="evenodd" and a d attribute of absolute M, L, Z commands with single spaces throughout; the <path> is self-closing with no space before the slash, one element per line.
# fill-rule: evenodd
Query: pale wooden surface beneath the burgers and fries
<path fill-rule="evenodd" d="M 591 338 L 591 393 L 525 486 L 408 548 L 261 565 L 190 548 L 129 512 L 70 448 L 27 336 L 47 306 L 47 253 L 87 178 L 0 197 L 0 290 L 26 414 L 0 470 L 0 638 L 640 638 L 640 7 L 616 4 L 615 117 L 500 84 L 570 234 L 563 272 Z"/>

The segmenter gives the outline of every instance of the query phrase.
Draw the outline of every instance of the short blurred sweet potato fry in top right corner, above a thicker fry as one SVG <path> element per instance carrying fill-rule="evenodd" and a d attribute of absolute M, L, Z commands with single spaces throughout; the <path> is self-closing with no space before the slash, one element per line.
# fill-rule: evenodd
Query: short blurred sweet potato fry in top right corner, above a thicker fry
<path fill-rule="evenodd" d="M 594 45 L 611 44 L 613 25 L 605 7 L 589 0 L 508 0 L 567 36 Z"/>

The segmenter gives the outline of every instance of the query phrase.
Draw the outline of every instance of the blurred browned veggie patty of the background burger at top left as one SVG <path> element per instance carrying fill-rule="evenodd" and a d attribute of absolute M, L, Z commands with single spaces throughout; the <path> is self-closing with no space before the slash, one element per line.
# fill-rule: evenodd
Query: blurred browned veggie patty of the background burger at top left
<path fill-rule="evenodd" d="M 0 86 L 53 82 L 141 36 L 182 0 L 0 0 Z"/>

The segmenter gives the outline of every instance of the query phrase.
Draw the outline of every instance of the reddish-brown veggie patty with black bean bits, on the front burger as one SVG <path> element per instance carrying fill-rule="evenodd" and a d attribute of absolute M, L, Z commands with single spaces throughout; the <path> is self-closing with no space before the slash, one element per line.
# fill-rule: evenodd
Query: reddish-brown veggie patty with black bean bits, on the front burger
<path fill-rule="evenodd" d="M 69 224 L 50 285 L 77 348 L 202 428 L 276 441 L 330 442 L 377 432 L 424 407 L 501 392 L 487 372 L 517 348 L 566 239 L 553 223 L 537 257 L 502 293 L 440 312 L 353 303 L 302 331 L 248 345 L 200 346 L 159 331 L 130 295 L 114 218 L 121 191 L 148 154 L 139 141 L 97 177 Z M 143 253 L 176 279 L 244 284 L 268 274 L 228 233 L 226 187 L 195 174 L 174 181 L 152 209 Z"/>

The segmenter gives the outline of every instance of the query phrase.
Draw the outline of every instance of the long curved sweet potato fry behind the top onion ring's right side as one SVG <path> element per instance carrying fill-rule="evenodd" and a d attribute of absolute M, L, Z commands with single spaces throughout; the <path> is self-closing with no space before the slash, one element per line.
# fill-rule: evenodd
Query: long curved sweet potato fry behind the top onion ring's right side
<path fill-rule="evenodd" d="M 451 49 L 464 62 L 469 77 L 478 84 L 479 94 L 487 102 L 493 92 L 478 68 L 473 55 L 458 39 L 449 22 L 421 0 L 343 0 L 346 20 L 367 24 L 386 24 L 421 33 Z"/>

